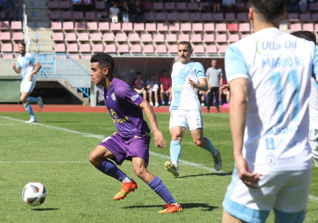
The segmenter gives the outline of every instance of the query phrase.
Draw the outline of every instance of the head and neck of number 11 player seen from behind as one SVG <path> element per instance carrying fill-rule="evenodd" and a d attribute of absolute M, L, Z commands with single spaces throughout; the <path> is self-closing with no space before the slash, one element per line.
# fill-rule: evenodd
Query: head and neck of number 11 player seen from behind
<path fill-rule="evenodd" d="M 279 27 L 280 21 L 285 18 L 286 0 L 251 0 L 251 4 L 248 18 L 255 31 L 269 27 L 268 25 Z"/>

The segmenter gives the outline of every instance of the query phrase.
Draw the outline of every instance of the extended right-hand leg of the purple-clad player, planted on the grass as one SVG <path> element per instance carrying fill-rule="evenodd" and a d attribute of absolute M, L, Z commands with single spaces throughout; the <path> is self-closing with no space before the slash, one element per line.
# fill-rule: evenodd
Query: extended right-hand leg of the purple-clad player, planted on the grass
<path fill-rule="evenodd" d="M 182 212 L 181 205 L 172 197 L 169 190 L 162 183 L 161 179 L 158 176 L 150 173 L 147 169 L 147 163 L 144 159 L 140 157 L 132 157 L 132 167 L 134 173 L 142 179 L 148 186 L 153 189 L 156 194 L 164 200 L 168 207 L 165 210 L 159 211 L 158 213 L 173 213 L 173 212 Z"/>

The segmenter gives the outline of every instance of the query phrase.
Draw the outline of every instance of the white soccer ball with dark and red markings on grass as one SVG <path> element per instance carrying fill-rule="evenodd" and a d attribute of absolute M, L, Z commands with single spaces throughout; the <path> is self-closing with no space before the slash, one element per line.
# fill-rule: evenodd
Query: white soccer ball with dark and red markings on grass
<path fill-rule="evenodd" d="M 38 206 L 42 204 L 47 195 L 45 187 L 39 182 L 28 183 L 22 191 L 23 200 L 31 206 Z"/>

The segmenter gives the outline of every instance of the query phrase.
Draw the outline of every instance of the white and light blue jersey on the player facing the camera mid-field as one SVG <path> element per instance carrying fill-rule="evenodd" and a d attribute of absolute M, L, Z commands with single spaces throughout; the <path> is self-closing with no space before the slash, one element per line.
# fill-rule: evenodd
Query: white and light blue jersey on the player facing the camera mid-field
<path fill-rule="evenodd" d="M 181 110 L 200 110 L 198 90 L 188 83 L 188 78 L 198 82 L 200 78 L 206 78 L 204 67 L 198 62 L 183 64 L 176 62 L 172 67 L 172 100 L 170 111 Z"/>

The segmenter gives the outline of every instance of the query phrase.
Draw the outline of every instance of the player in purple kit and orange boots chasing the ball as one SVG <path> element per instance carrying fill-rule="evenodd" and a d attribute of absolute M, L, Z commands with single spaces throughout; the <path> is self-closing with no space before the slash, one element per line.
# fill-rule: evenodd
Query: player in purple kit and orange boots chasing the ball
<path fill-rule="evenodd" d="M 165 209 L 159 211 L 159 214 L 182 212 L 181 205 L 172 197 L 161 179 L 147 170 L 151 136 L 149 126 L 143 119 L 142 108 L 149 119 L 155 146 L 164 148 L 166 144 L 152 106 L 126 82 L 112 76 L 114 61 L 110 55 L 94 54 L 90 62 L 92 81 L 102 86 L 104 102 L 117 131 L 91 151 L 89 161 L 102 173 L 122 182 L 121 190 L 114 196 L 114 200 L 124 199 L 138 188 L 132 178 L 109 160 L 120 165 L 127 159 L 132 161 L 134 173 L 165 201 Z"/>

